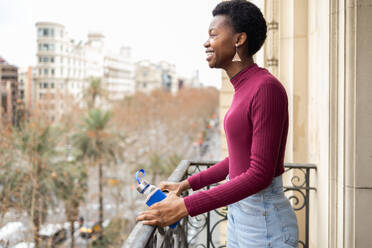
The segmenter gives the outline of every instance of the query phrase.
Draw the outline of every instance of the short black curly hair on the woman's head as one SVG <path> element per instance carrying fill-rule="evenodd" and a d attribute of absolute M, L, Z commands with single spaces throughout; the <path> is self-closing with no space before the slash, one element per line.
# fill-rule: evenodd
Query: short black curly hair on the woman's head
<path fill-rule="evenodd" d="M 248 55 L 253 56 L 265 42 L 267 26 L 260 9 L 246 0 L 230 0 L 219 3 L 213 16 L 226 15 L 235 32 L 246 33 Z"/>

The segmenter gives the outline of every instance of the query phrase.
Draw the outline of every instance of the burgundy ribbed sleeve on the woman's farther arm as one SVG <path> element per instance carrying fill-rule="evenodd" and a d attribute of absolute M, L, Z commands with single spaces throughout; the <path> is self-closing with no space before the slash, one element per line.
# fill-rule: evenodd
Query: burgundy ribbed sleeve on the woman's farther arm
<path fill-rule="evenodd" d="M 205 186 L 218 183 L 226 178 L 229 174 L 229 158 L 218 162 L 209 167 L 207 170 L 201 171 L 187 178 L 192 190 L 198 190 Z"/>

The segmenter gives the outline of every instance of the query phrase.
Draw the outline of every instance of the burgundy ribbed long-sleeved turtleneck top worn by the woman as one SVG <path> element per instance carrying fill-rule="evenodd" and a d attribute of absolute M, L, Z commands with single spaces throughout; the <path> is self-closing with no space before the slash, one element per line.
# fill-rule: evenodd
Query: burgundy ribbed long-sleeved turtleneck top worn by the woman
<path fill-rule="evenodd" d="M 187 180 L 196 191 L 184 198 L 195 216 L 240 201 L 268 187 L 284 172 L 288 133 L 288 99 L 282 84 L 266 69 L 252 64 L 231 79 L 232 104 L 224 118 L 229 156 Z"/>

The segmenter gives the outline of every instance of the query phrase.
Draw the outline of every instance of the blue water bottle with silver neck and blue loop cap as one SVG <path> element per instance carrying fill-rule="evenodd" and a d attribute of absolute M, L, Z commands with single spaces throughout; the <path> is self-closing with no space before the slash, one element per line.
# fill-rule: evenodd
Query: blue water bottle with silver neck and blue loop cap
<path fill-rule="evenodd" d="M 142 177 L 145 176 L 145 171 L 143 169 L 137 171 L 136 180 L 138 182 L 137 191 L 143 194 L 146 197 L 146 205 L 151 206 L 154 203 L 162 201 L 167 197 L 163 191 L 158 187 L 149 184 L 146 180 L 142 180 Z M 177 226 L 178 222 L 170 225 L 171 229 L 174 229 Z"/>

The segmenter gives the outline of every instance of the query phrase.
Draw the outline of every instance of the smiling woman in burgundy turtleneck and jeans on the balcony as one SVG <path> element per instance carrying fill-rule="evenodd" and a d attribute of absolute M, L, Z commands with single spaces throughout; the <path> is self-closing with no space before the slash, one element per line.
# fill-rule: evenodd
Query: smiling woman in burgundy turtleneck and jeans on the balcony
<path fill-rule="evenodd" d="M 168 197 L 142 212 L 145 225 L 167 226 L 228 205 L 227 247 L 298 247 L 296 216 L 283 194 L 288 100 L 284 87 L 253 62 L 266 39 L 261 11 L 245 0 L 213 10 L 205 42 L 211 68 L 226 71 L 234 98 L 224 119 L 229 156 L 181 183 L 164 182 Z M 185 198 L 184 190 L 227 182 Z"/>

